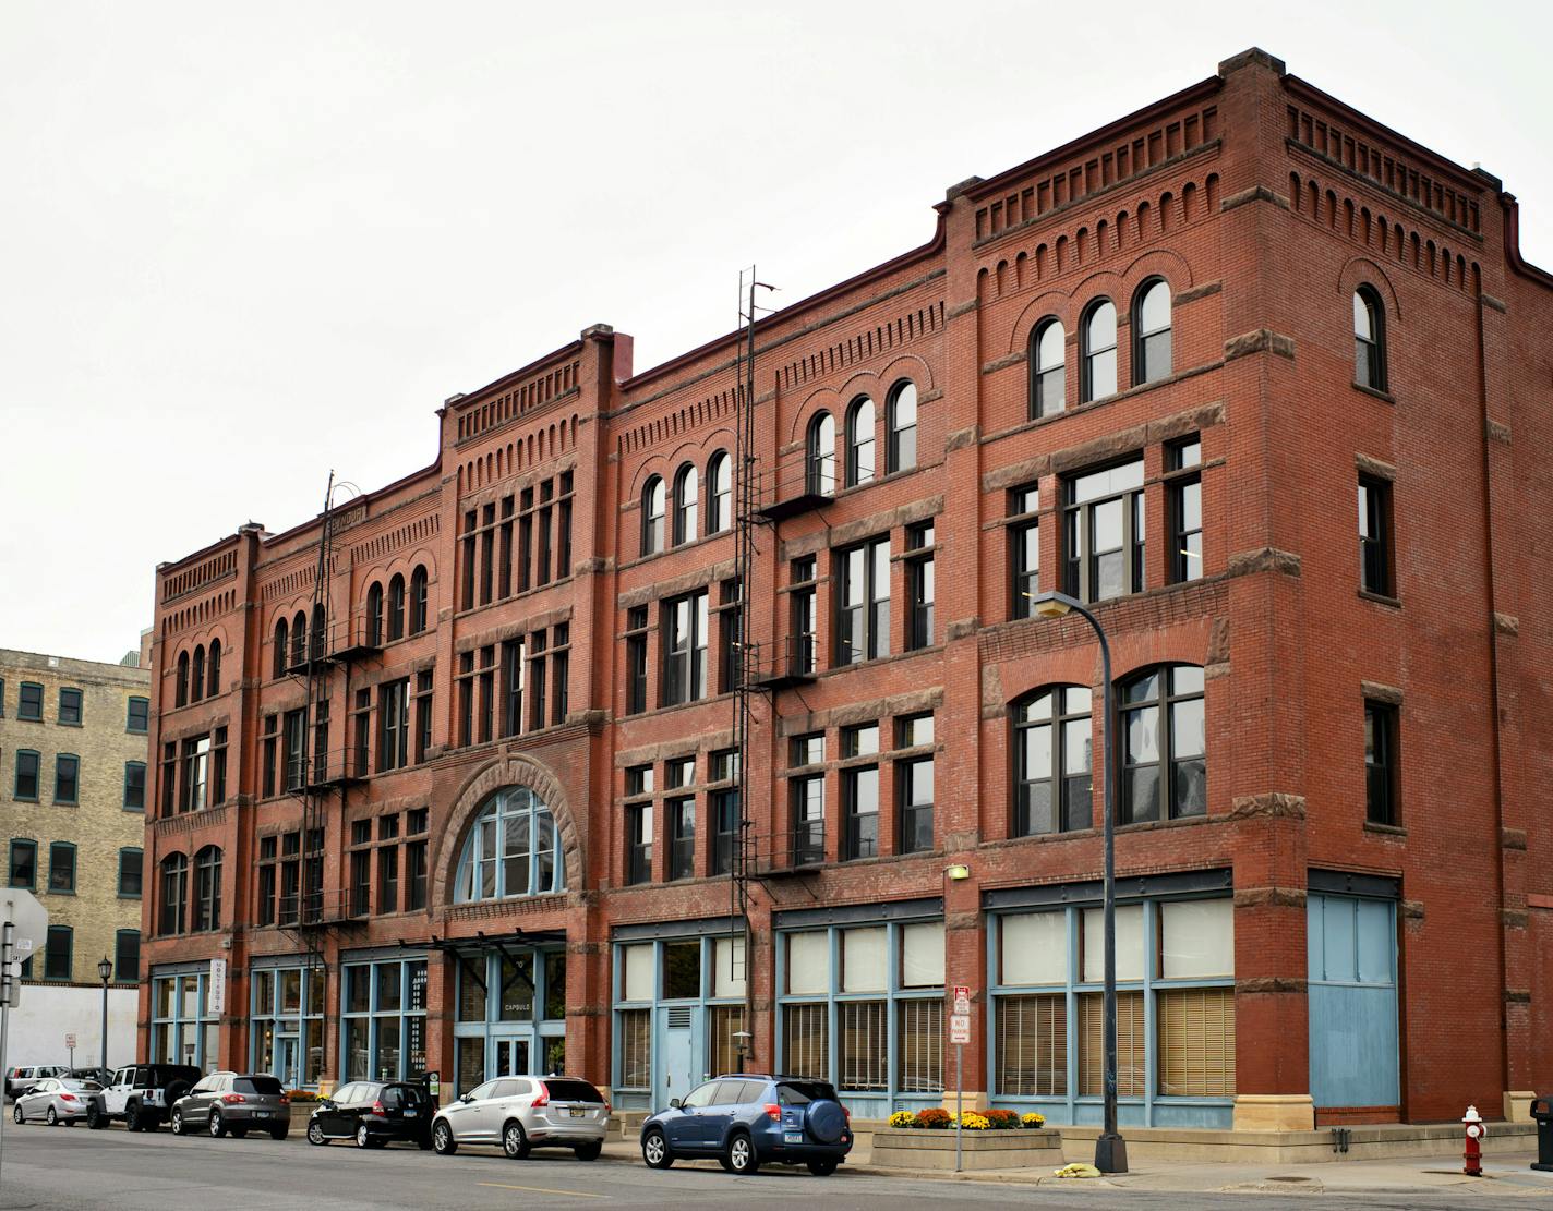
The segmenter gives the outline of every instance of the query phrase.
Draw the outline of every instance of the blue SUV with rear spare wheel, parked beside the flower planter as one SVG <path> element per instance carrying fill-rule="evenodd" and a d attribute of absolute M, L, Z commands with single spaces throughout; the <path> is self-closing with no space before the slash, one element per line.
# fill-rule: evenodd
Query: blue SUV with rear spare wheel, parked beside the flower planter
<path fill-rule="evenodd" d="M 836 1088 L 798 1076 L 719 1076 L 641 1124 L 641 1158 L 654 1169 L 716 1157 L 730 1174 L 778 1161 L 828 1177 L 851 1150 L 851 1115 Z"/>

